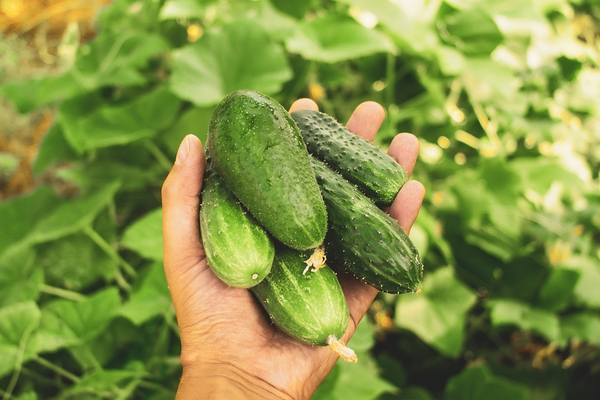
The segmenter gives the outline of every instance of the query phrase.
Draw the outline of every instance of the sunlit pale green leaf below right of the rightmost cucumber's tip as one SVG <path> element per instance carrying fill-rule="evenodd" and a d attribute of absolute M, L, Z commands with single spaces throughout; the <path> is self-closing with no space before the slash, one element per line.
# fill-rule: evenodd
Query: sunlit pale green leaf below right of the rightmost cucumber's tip
<path fill-rule="evenodd" d="M 441 268 L 425 275 L 421 294 L 398 296 L 394 321 L 444 355 L 458 357 L 465 337 L 465 317 L 476 299 L 451 267 Z"/>

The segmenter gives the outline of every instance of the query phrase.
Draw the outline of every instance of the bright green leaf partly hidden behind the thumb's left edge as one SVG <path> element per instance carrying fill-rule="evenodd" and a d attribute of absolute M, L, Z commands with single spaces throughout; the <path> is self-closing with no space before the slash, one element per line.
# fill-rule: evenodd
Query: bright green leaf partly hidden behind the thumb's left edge
<path fill-rule="evenodd" d="M 131 224 L 121 244 L 152 260 L 162 260 L 162 210 L 157 208 Z"/>

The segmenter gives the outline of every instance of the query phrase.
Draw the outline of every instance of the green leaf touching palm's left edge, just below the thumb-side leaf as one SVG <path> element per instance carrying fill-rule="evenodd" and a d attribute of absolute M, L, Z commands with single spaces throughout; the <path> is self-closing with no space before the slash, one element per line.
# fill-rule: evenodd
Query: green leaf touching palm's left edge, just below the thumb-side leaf
<path fill-rule="evenodd" d="M 123 304 L 118 314 L 139 326 L 157 315 L 165 314 L 171 305 L 163 265 L 156 262 L 150 266 L 142 284 Z"/>

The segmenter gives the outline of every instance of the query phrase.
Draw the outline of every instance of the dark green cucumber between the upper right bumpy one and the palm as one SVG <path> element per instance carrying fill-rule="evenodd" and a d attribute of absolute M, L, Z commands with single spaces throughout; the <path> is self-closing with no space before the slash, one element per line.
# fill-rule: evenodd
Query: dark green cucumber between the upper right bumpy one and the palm
<path fill-rule="evenodd" d="M 329 213 L 328 261 L 382 292 L 419 290 L 423 264 L 398 222 L 325 163 L 312 165 Z"/>

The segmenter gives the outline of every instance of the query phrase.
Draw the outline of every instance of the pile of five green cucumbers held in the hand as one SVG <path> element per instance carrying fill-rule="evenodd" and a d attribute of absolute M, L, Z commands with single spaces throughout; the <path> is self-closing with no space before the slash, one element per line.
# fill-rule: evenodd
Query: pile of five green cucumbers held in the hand
<path fill-rule="evenodd" d="M 271 320 L 310 345 L 339 342 L 349 310 L 339 266 L 388 293 L 416 292 L 423 264 L 381 208 L 407 181 L 403 168 L 330 116 L 291 114 L 264 94 L 239 90 L 208 129 L 200 229 L 208 265 L 248 288 Z M 341 354 L 356 361 L 351 354 Z"/>

